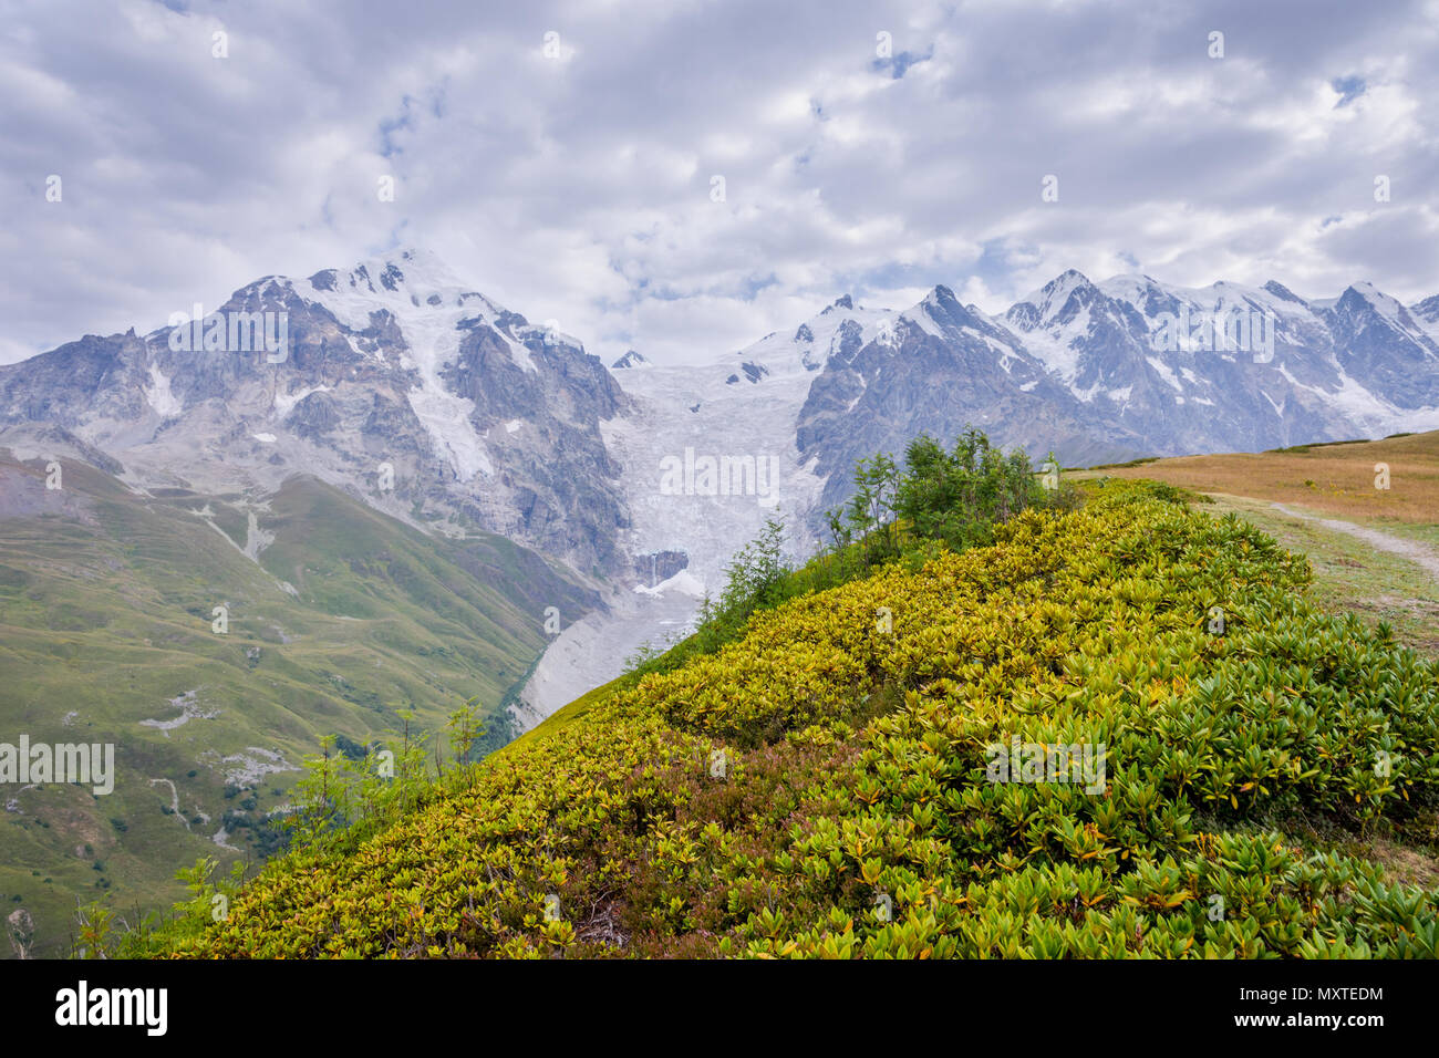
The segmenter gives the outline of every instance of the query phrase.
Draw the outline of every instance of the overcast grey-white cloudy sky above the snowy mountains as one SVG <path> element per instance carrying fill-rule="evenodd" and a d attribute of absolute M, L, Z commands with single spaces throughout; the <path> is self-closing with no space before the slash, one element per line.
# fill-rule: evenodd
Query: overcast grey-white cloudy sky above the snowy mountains
<path fill-rule="evenodd" d="M 1066 268 L 1439 294 L 1439 0 L 0 0 L 0 363 L 412 245 L 606 361 Z"/>

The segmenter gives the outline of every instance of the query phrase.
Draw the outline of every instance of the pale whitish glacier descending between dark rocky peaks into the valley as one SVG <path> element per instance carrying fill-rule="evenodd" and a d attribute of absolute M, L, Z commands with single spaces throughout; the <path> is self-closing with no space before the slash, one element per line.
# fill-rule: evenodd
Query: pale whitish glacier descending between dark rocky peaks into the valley
<path fill-rule="evenodd" d="M 843 302 L 845 299 L 842 299 Z M 735 551 L 754 540 L 767 518 L 786 524 L 786 553 L 807 559 L 819 541 L 807 528 L 825 479 L 813 458 L 800 461 L 796 428 L 809 387 L 837 353 L 843 324 L 861 328 L 861 343 L 892 340 L 898 314 L 836 302 L 794 334 L 770 334 L 735 354 L 699 367 L 643 363 L 612 369 L 635 399 L 627 417 L 602 423 L 604 445 L 622 466 L 630 528 L 622 547 L 636 563 L 640 583 L 607 602 L 610 613 L 591 613 L 567 628 L 545 651 L 521 692 L 517 717 L 532 727 L 590 688 L 617 677 L 625 659 L 649 643 L 665 646 L 694 629 L 705 594 L 718 596 Z M 745 371 L 750 366 L 750 371 Z M 688 449 L 688 451 L 686 451 Z M 701 495 L 698 466 L 711 458 L 755 462 L 753 489 L 738 495 Z M 777 485 L 758 465 L 778 465 Z M 696 468 L 692 494 L 686 468 Z M 669 475 L 666 468 L 678 469 Z M 743 476 L 743 475 L 741 475 Z M 679 485 L 679 489 L 666 485 Z M 771 485 L 774 485 L 771 488 Z M 763 492 L 763 494 L 761 494 Z M 650 583 L 648 556 L 682 553 L 688 564 Z"/>

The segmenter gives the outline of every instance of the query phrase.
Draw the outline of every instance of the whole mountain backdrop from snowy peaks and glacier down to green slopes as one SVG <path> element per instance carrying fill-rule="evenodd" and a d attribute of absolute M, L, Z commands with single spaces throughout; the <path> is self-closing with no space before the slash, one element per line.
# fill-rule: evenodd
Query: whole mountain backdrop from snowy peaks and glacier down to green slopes
<path fill-rule="evenodd" d="M 469 698 L 482 749 L 534 727 L 676 638 L 766 520 L 809 554 L 855 462 L 921 432 L 1078 466 L 1439 428 L 1439 297 L 1364 282 L 840 297 L 698 366 L 606 366 L 423 250 L 265 276 L 214 318 L 240 314 L 283 354 L 186 320 L 0 367 L 0 741 L 117 747 L 111 796 L 7 795 L 0 892 L 37 953 L 76 898 L 160 905 L 199 855 L 265 855 L 322 736 Z M 1176 328 L 1215 318 L 1263 348 Z"/>

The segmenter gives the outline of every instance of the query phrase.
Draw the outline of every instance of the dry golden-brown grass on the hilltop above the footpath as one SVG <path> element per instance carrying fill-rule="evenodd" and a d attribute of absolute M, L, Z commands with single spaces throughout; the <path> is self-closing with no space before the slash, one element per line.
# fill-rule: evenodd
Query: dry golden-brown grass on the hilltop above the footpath
<path fill-rule="evenodd" d="M 1389 465 L 1389 489 L 1374 487 L 1374 464 Z M 1439 521 L 1439 430 L 1307 451 L 1179 456 L 1076 476 L 1098 474 L 1297 504 L 1344 518 Z"/>

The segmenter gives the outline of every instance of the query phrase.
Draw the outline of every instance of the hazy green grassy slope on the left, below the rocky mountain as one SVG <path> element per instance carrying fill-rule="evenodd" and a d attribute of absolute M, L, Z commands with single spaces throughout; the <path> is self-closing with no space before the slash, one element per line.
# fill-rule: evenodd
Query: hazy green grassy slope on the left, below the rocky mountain
<path fill-rule="evenodd" d="M 81 464 L 65 465 L 63 494 L 43 492 L 35 466 L 0 462 L 0 741 L 117 747 L 109 796 L 3 790 L 19 810 L 0 813 L 0 900 L 30 911 L 40 954 L 66 943 L 76 897 L 164 907 L 197 856 L 262 855 L 263 818 L 322 734 L 366 743 L 406 704 L 433 731 L 478 695 L 504 737 L 498 705 L 545 645 L 544 607 L 590 605 L 502 537 L 426 537 L 315 481 L 292 479 L 259 512 L 275 538 L 256 563 L 240 550 L 246 512 L 219 498 L 144 498 Z M 213 525 L 194 514 L 206 507 Z M 210 630 L 220 603 L 223 636 Z M 168 701 L 187 692 L 214 715 L 141 723 L 177 718 Z M 288 770 L 236 780 L 240 761 L 223 757 L 260 759 L 250 747 Z M 226 813 L 240 852 L 213 841 Z"/>

